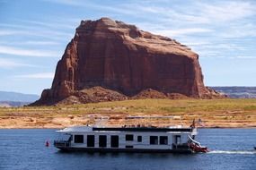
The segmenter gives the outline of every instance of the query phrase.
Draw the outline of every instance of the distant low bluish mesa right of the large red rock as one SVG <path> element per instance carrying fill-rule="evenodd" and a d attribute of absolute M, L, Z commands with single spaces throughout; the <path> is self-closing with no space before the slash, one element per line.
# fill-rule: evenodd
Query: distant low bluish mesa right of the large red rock
<path fill-rule="evenodd" d="M 218 92 L 225 93 L 229 98 L 256 98 L 256 87 L 211 87 Z"/>

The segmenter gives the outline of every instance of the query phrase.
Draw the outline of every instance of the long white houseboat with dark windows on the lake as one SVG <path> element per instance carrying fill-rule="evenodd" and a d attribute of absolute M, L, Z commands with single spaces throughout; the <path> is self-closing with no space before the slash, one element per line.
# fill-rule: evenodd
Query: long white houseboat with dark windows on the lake
<path fill-rule="evenodd" d="M 128 118 L 134 119 L 141 117 L 133 116 Z M 57 132 L 67 136 L 66 140 L 54 141 L 54 146 L 63 151 L 207 152 L 207 148 L 202 147 L 195 140 L 198 132 L 194 124 L 186 128 L 181 125 L 169 127 L 142 125 L 104 127 L 102 125 L 86 125 L 67 127 Z"/>

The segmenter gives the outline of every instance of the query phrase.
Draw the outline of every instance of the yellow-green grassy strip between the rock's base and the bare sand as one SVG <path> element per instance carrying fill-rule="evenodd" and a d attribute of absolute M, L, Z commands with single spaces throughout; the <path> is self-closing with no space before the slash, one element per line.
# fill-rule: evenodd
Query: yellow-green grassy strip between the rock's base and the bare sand
<path fill-rule="evenodd" d="M 256 111 L 256 99 L 136 99 L 90 103 L 70 106 L 25 106 L 0 108 L 0 115 L 10 112 L 45 113 L 45 114 L 93 114 L 93 113 L 126 113 L 126 114 L 175 114 L 193 112 Z"/>

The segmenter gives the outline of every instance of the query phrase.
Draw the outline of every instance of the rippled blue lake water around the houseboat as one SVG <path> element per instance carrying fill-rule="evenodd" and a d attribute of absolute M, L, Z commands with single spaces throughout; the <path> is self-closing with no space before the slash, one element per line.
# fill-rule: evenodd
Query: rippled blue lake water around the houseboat
<path fill-rule="evenodd" d="M 207 154 L 63 153 L 54 129 L 0 130 L 0 169 L 256 170 L 256 129 L 199 129 Z"/>

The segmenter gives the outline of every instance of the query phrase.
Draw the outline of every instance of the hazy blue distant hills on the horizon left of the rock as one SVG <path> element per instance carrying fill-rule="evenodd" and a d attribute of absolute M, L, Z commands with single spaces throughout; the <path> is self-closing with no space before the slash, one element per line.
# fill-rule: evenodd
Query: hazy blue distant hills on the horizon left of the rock
<path fill-rule="evenodd" d="M 40 96 L 38 95 L 0 91 L 0 107 L 24 106 L 36 101 L 39 98 Z"/>

